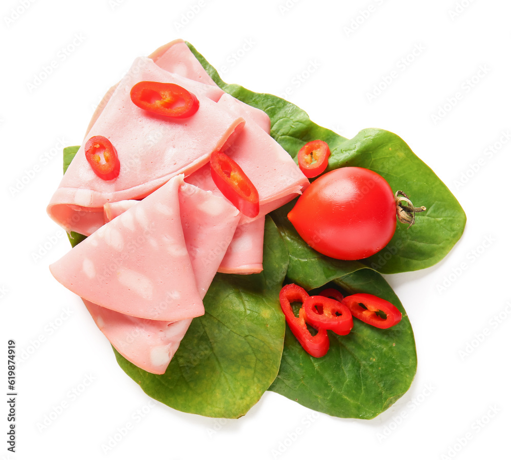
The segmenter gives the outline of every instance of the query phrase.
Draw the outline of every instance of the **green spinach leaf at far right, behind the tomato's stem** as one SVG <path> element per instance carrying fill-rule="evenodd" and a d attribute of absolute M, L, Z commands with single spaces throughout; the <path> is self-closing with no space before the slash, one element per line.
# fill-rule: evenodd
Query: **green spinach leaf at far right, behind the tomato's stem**
<path fill-rule="evenodd" d="M 461 237 L 466 215 L 458 201 L 435 173 L 417 158 L 398 136 L 382 129 L 363 129 L 339 144 L 329 170 L 360 166 L 378 172 L 392 190 L 403 190 L 415 206 L 410 228 L 398 222 L 396 233 L 377 254 L 363 260 L 380 273 L 398 273 L 430 267 L 442 260 Z"/>

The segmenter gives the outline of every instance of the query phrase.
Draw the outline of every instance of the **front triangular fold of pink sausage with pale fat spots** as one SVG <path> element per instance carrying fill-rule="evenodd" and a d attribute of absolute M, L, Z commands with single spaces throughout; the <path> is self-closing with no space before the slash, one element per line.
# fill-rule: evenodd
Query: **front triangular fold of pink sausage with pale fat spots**
<path fill-rule="evenodd" d="M 203 315 L 180 218 L 182 183 L 182 176 L 173 178 L 103 225 L 54 262 L 52 274 L 80 297 L 130 316 Z"/>

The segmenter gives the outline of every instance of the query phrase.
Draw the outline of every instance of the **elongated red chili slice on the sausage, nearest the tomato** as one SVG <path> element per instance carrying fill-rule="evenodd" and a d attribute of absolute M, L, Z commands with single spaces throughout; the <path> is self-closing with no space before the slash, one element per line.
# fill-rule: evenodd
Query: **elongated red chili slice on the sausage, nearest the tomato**
<path fill-rule="evenodd" d="M 211 177 L 225 198 L 242 214 L 259 214 L 259 193 L 240 165 L 223 152 L 215 151 L 210 157 Z"/>

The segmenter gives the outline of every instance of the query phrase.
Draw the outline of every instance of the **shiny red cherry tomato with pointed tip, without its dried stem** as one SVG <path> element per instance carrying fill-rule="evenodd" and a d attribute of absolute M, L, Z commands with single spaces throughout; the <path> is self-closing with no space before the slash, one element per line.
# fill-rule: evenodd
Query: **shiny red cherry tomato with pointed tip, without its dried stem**
<path fill-rule="evenodd" d="M 376 254 L 396 231 L 396 200 L 380 174 L 344 167 L 323 174 L 300 196 L 288 218 L 321 254 L 357 260 Z"/>

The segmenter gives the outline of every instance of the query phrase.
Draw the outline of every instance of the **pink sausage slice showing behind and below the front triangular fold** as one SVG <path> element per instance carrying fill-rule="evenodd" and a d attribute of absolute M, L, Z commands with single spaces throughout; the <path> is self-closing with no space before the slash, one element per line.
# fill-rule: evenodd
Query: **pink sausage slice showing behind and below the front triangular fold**
<path fill-rule="evenodd" d="M 110 218 L 121 215 L 136 203 L 129 200 L 112 204 Z M 240 215 L 227 200 L 184 183 L 179 187 L 179 215 L 197 289 L 203 297 Z M 144 319 L 83 301 L 115 349 L 128 361 L 153 374 L 165 373 L 192 322 L 192 318 L 174 322 Z"/>

